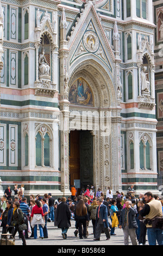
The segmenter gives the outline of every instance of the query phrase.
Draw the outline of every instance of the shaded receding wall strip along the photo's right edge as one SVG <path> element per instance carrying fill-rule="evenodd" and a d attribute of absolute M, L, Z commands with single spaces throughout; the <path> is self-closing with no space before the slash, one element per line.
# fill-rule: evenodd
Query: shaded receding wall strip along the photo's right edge
<path fill-rule="evenodd" d="M 154 53 L 155 53 L 155 101 L 156 101 L 156 150 L 158 187 L 162 186 L 163 177 L 163 7 L 161 1 L 153 1 L 153 17 L 155 28 Z"/>

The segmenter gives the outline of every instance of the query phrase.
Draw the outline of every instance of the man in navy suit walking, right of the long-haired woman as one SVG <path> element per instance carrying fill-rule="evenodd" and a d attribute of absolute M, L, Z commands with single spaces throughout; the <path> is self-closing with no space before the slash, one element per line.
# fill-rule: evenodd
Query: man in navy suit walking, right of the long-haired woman
<path fill-rule="evenodd" d="M 104 230 L 104 233 L 106 235 L 106 240 L 110 239 L 109 234 L 109 222 L 108 222 L 108 209 L 106 205 L 102 204 L 103 199 L 98 198 L 97 199 L 97 214 L 96 214 L 96 229 L 95 229 L 95 241 L 100 240 L 101 232 Z"/>

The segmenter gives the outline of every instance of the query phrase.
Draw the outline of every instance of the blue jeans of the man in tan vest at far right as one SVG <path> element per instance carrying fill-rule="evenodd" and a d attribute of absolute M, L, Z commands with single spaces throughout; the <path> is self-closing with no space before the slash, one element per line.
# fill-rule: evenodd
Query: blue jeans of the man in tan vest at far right
<path fill-rule="evenodd" d="M 156 245 L 156 241 L 158 241 L 158 245 L 163 245 L 163 230 L 160 228 L 147 228 L 147 234 L 149 245 Z"/>

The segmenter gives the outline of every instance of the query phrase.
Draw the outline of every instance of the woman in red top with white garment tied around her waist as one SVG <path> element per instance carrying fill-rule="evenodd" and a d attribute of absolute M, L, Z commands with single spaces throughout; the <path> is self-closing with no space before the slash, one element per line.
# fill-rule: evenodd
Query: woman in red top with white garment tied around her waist
<path fill-rule="evenodd" d="M 34 239 L 37 239 L 37 224 L 39 224 L 40 237 L 43 239 L 43 227 L 45 226 L 45 217 L 41 207 L 41 202 L 36 200 L 36 205 L 32 209 L 32 214 L 30 215 L 30 224 L 34 227 Z"/>

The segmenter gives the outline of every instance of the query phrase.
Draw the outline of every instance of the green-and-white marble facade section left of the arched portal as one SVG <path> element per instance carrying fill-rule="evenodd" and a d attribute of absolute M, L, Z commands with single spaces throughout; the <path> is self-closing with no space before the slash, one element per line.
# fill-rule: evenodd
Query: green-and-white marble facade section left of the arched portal
<path fill-rule="evenodd" d="M 2 1 L 0 176 L 4 189 L 23 183 L 28 195 L 60 194 L 57 4 Z M 45 77 L 36 62 L 42 48 Z"/>

